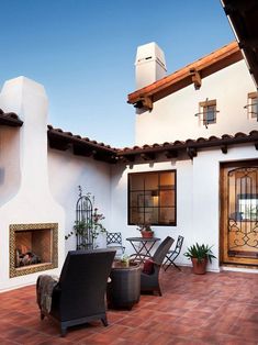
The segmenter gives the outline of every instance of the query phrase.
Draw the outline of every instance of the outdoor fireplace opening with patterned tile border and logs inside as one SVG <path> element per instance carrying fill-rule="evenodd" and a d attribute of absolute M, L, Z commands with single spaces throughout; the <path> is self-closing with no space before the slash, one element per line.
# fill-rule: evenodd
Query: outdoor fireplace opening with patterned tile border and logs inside
<path fill-rule="evenodd" d="M 10 278 L 57 267 L 57 223 L 10 225 Z"/>

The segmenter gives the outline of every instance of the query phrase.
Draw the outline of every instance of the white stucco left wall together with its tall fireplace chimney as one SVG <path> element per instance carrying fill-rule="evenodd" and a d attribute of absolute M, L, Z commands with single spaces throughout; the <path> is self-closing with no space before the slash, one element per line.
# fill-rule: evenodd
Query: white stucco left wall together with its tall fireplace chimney
<path fill-rule="evenodd" d="M 7 81 L 0 93 L 0 108 L 23 121 L 21 127 L 0 127 L 0 291 L 35 283 L 43 274 L 9 277 L 10 224 L 58 223 L 58 267 L 46 271 L 54 275 L 76 249 L 76 236 L 65 235 L 75 224 L 79 185 L 94 196 L 110 226 L 110 165 L 47 147 L 47 105 L 44 87 L 24 77 Z"/>

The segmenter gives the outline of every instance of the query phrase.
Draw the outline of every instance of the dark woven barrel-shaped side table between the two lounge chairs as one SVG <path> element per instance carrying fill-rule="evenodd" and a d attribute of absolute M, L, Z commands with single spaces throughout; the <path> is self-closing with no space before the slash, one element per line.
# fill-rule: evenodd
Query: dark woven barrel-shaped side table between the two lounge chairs
<path fill-rule="evenodd" d="M 138 303 L 141 296 L 141 267 L 137 263 L 125 266 L 121 261 L 112 265 L 111 281 L 106 288 L 108 308 L 126 308 L 131 310 Z"/>

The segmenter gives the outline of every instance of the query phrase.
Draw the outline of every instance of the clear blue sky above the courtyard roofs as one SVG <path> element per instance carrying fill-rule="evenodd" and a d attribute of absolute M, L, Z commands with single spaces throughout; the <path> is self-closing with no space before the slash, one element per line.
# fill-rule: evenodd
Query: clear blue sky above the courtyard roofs
<path fill-rule="evenodd" d="M 48 123 L 115 147 L 134 144 L 134 60 L 156 42 L 168 74 L 232 42 L 220 0 L 0 0 L 0 86 L 44 85 Z"/>

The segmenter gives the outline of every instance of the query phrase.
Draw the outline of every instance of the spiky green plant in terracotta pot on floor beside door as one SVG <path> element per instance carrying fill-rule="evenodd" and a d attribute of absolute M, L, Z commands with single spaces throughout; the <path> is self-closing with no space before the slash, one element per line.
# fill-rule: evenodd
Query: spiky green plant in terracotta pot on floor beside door
<path fill-rule="evenodd" d="M 212 246 L 207 244 L 200 245 L 198 243 L 187 248 L 183 254 L 187 258 L 192 260 L 193 272 L 195 275 L 204 275 L 206 272 L 207 260 L 212 263 L 213 258 L 216 258 L 212 253 Z"/>

